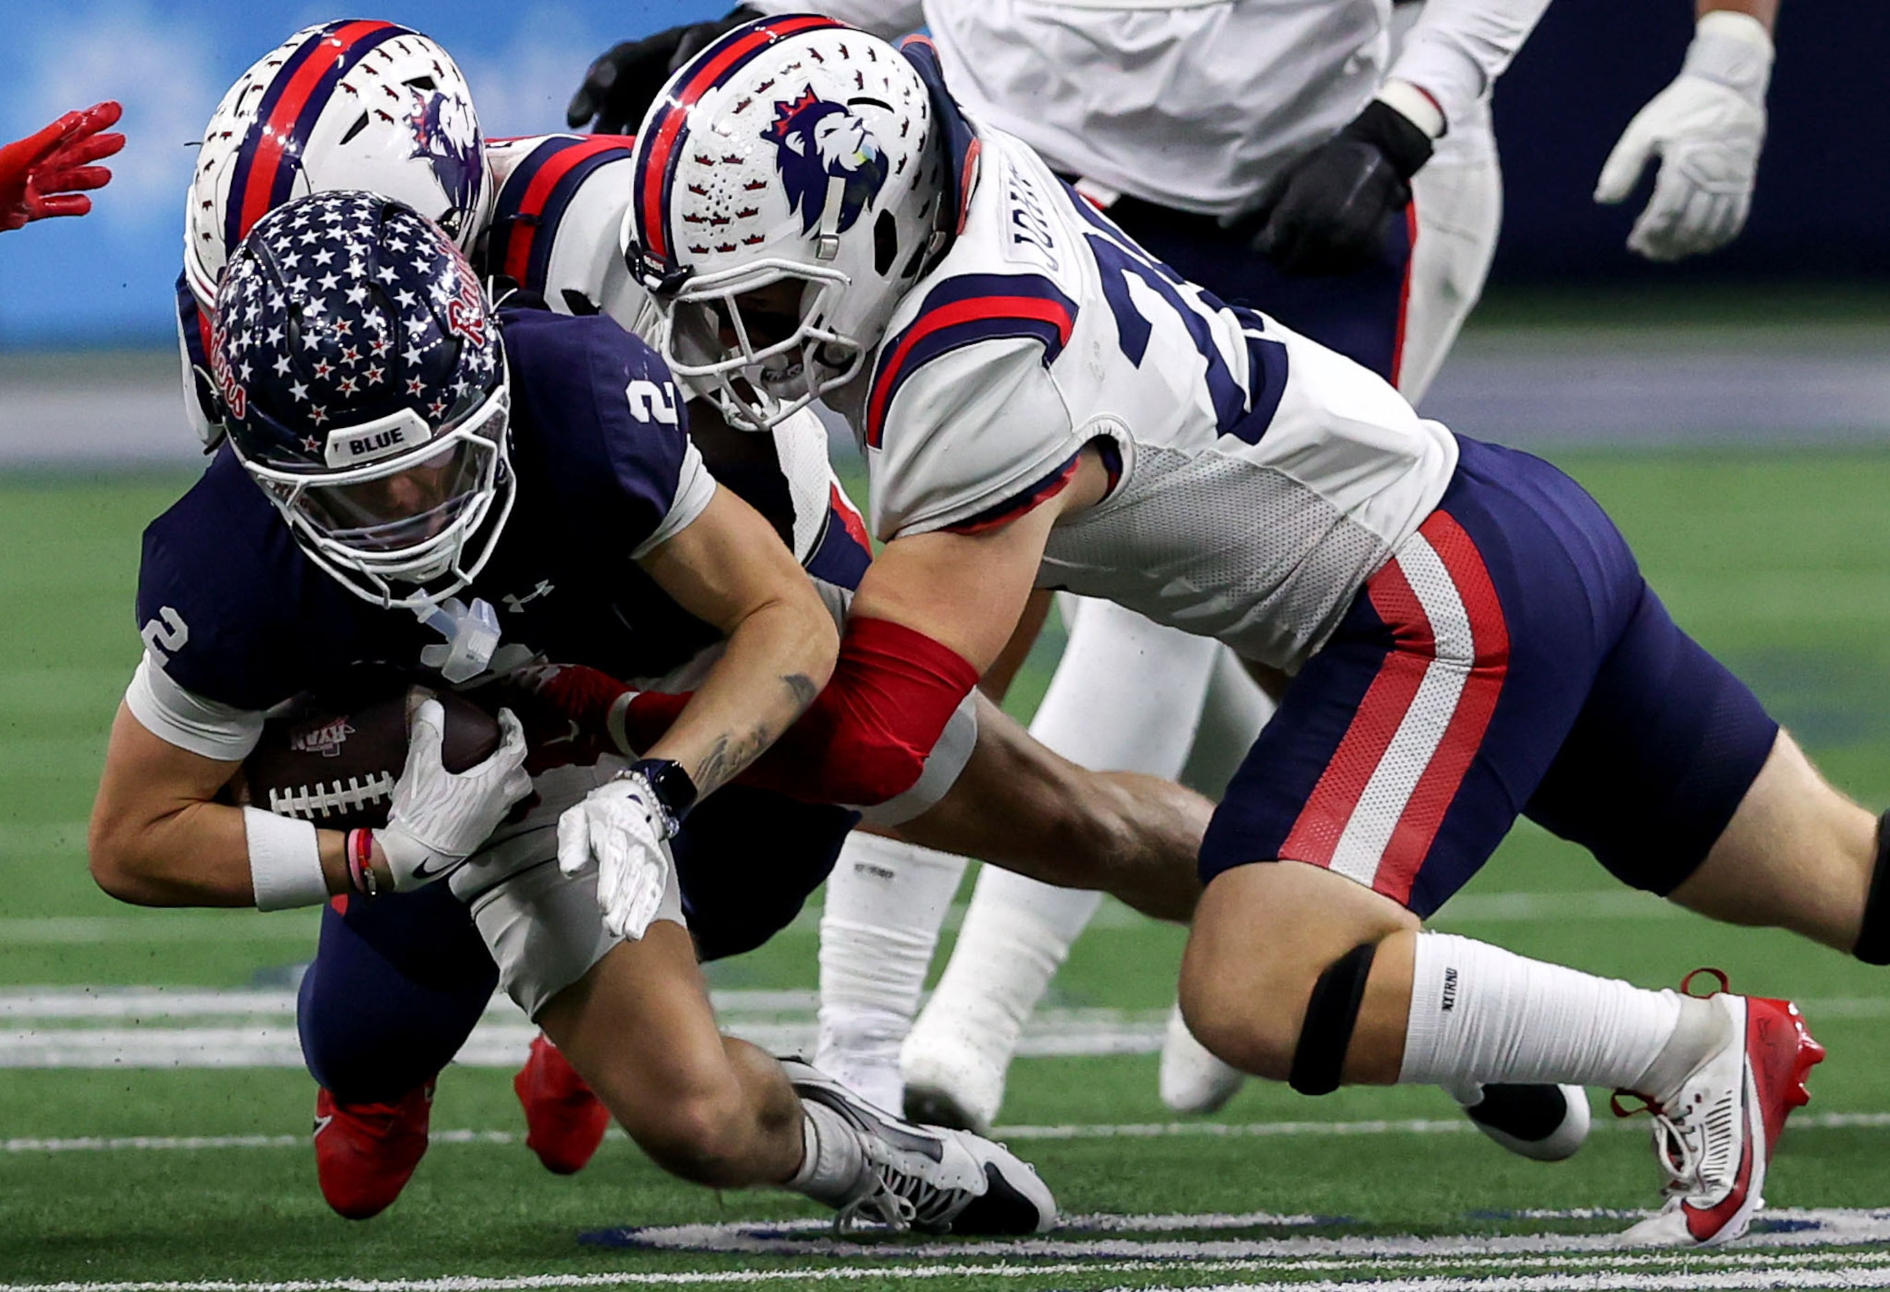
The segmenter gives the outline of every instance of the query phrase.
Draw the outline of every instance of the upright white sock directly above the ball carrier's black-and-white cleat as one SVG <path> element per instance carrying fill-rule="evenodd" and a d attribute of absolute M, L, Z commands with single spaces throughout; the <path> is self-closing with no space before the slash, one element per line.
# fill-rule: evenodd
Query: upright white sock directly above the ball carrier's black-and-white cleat
<path fill-rule="evenodd" d="M 894 1114 L 905 1094 L 900 1043 L 964 867 L 949 852 L 854 831 L 828 878 L 815 1067 Z"/>

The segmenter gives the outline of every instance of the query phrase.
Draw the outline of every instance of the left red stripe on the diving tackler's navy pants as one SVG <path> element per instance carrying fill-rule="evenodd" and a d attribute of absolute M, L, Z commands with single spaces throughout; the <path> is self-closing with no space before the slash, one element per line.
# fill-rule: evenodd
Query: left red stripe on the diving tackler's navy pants
<path fill-rule="evenodd" d="M 1397 557 L 1366 580 L 1365 593 L 1372 599 L 1378 618 L 1391 625 L 1393 646 L 1319 774 L 1319 784 L 1314 786 L 1287 841 L 1280 846 L 1280 856 L 1291 861 L 1332 865 L 1332 852 L 1346 833 L 1346 824 L 1351 822 L 1365 786 L 1391 748 L 1391 737 L 1404 722 L 1423 684 L 1425 669 L 1436 655 L 1431 620 L 1404 570 L 1399 569 Z"/>

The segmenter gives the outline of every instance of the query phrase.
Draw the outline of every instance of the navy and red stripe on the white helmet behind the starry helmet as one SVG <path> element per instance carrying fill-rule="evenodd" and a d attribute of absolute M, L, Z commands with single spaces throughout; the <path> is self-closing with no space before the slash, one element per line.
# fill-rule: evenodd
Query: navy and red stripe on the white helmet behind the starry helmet
<path fill-rule="evenodd" d="M 263 93 L 231 176 L 223 244 L 231 249 L 270 210 L 295 195 L 297 157 L 335 87 L 361 59 L 404 26 L 367 19 L 327 23 L 291 53 Z"/>

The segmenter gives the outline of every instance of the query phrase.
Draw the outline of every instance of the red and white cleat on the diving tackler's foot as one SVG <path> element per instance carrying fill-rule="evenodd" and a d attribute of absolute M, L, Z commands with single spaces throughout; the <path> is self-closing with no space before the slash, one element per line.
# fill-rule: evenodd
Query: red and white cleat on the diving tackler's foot
<path fill-rule="evenodd" d="M 1765 1205 L 1765 1167 L 1784 1118 L 1811 1099 L 1805 1079 L 1824 1062 L 1792 1001 L 1731 995 L 1720 980 L 1710 1003 L 1726 1012 L 1726 1041 L 1680 1086 L 1650 1101 L 1654 1156 L 1667 1173 L 1658 1215 L 1622 1235 L 1631 1247 L 1707 1247 L 1746 1232 Z M 1616 1113 L 1624 1113 L 1616 1103 Z"/>

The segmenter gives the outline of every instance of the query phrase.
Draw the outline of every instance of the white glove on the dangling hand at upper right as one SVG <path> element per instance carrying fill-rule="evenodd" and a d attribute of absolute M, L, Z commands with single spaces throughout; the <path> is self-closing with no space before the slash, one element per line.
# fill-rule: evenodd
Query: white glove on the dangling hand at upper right
<path fill-rule="evenodd" d="M 1654 196 L 1627 234 L 1629 251 L 1678 261 L 1716 251 L 1744 229 L 1765 144 L 1771 60 L 1771 34 L 1756 17 L 1716 9 L 1699 19 L 1680 76 L 1635 113 L 1595 181 L 1597 202 L 1620 202 L 1659 157 Z"/>

